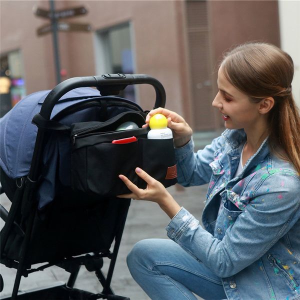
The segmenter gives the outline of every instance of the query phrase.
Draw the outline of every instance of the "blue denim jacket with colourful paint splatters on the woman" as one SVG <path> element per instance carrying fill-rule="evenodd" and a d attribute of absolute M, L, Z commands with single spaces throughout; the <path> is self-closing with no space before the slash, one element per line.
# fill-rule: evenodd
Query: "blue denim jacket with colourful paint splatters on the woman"
<path fill-rule="evenodd" d="M 167 235 L 222 278 L 228 299 L 300 299 L 300 177 L 267 139 L 235 176 L 245 133 L 175 150 L 178 182 L 208 183 L 202 224 L 181 207 Z M 200 199 L 202 200 L 202 199 Z"/>

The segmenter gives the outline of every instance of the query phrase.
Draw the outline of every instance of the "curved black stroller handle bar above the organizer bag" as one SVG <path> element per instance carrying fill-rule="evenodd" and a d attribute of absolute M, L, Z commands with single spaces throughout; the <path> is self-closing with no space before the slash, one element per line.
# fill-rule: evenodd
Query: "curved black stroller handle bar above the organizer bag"
<path fill-rule="evenodd" d="M 147 74 L 103 74 L 100 76 L 87 76 L 87 77 L 73 77 L 66 79 L 57 84 L 46 96 L 41 109 L 40 114 L 50 119 L 50 115 L 55 103 L 66 92 L 77 87 L 91 87 L 95 86 L 100 90 L 101 95 L 109 92 L 117 92 L 124 89 L 129 84 L 150 84 L 155 89 L 155 104 L 154 108 L 164 107 L 165 105 L 165 91 L 162 84 L 155 78 L 148 76 Z M 104 95 L 104 94 L 103 94 Z"/>

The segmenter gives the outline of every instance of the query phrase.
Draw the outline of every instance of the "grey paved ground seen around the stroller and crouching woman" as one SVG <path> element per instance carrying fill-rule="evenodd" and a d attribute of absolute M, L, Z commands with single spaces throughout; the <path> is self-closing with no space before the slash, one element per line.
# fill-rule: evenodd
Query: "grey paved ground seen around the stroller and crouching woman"
<path fill-rule="evenodd" d="M 201 147 L 201 139 L 205 136 L 206 140 L 211 140 L 217 133 L 210 132 L 196 134 L 196 147 Z M 209 141 L 208 141 L 209 142 Z M 178 185 L 168 188 L 169 192 L 178 201 L 179 205 L 184 206 L 197 219 L 200 219 L 204 206 L 207 185 L 182 188 Z M 1 195 L 1 204 L 9 207 L 9 200 L 5 195 Z M 165 226 L 169 222 L 167 215 L 158 207 L 157 204 L 148 201 L 132 200 L 129 207 L 128 216 L 118 252 L 115 269 L 113 272 L 111 287 L 116 294 L 130 297 L 130 300 L 149 300 L 149 297 L 131 278 L 126 266 L 126 255 L 135 242 L 143 238 L 167 238 Z M 3 222 L 1 220 L 1 227 Z M 107 263 L 104 263 L 104 272 L 107 269 Z M 0 298 L 4 294 L 10 294 L 12 291 L 15 270 L 0 266 L 0 272 L 4 279 L 4 289 L 0 293 Z M 21 279 L 20 289 L 26 290 L 40 286 L 48 286 L 57 281 L 65 281 L 68 278 L 67 272 L 63 269 L 53 266 L 44 271 L 30 274 L 27 278 Z M 102 288 L 96 276 L 88 272 L 83 266 L 80 268 L 76 288 L 88 290 L 91 292 L 101 292 Z M 199 298 L 200 299 L 200 298 Z M 42 300 L 42 299 L 41 299 Z M 55 299 L 53 299 L 55 300 Z"/>

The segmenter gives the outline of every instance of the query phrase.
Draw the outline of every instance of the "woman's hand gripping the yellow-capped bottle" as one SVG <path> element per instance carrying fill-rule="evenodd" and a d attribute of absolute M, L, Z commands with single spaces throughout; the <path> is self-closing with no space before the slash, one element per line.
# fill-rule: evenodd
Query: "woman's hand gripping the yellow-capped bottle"
<path fill-rule="evenodd" d="M 146 116 L 146 124 L 155 113 L 161 113 L 167 118 L 167 126 L 173 131 L 175 147 L 181 147 L 190 140 L 192 129 L 184 118 L 174 111 L 162 107 L 152 109 Z"/>

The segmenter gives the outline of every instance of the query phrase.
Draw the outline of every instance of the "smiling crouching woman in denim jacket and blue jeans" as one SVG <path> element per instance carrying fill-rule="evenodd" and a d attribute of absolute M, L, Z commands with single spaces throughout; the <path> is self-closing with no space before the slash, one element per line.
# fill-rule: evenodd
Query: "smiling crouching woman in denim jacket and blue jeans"
<path fill-rule="evenodd" d="M 300 299 L 300 117 L 291 93 L 293 62 L 274 45 L 246 43 L 218 70 L 212 105 L 226 127 L 193 153 L 192 130 L 175 112 L 157 108 L 173 130 L 178 182 L 209 182 L 199 225 L 158 181 L 132 193 L 155 201 L 171 218 L 169 240 L 138 242 L 127 257 L 151 299 Z"/>

